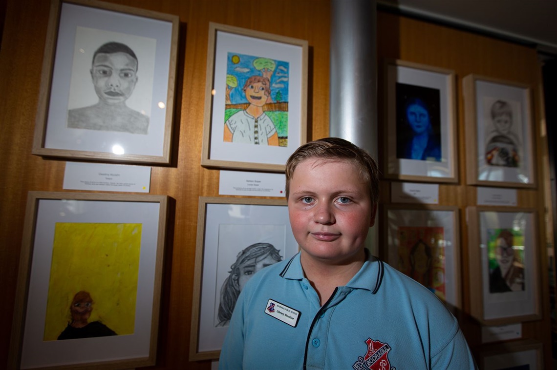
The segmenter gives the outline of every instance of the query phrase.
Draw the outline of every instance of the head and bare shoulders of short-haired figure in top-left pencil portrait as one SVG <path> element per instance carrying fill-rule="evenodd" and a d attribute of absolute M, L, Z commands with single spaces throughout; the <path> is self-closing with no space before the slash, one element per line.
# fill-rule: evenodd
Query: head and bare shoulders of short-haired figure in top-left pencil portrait
<path fill-rule="evenodd" d="M 138 58 L 119 42 L 96 49 L 91 79 L 99 101 L 89 107 L 70 109 L 68 127 L 147 134 L 149 117 L 126 106 L 138 82 Z"/>

